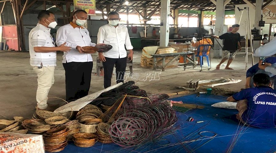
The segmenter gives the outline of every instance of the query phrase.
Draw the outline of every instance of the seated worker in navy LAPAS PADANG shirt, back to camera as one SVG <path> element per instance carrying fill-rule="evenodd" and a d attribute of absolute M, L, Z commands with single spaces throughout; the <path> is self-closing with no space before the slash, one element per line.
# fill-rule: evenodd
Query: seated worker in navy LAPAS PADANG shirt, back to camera
<path fill-rule="evenodd" d="M 237 118 L 245 125 L 258 128 L 276 127 L 276 90 L 270 86 L 270 77 L 259 73 L 253 76 L 256 88 L 244 89 L 231 97 L 229 102 L 237 102 Z"/>

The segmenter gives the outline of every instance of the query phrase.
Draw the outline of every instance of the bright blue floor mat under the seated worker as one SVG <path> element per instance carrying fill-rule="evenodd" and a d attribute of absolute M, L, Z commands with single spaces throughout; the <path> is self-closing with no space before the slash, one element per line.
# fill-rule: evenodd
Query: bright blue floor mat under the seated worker
<path fill-rule="evenodd" d="M 276 128 L 257 129 L 239 125 L 235 119 L 237 110 L 211 107 L 226 101 L 217 95 L 186 95 L 171 100 L 205 106 L 185 113 L 177 112 L 178 121 L 168 131 L 168 136 L 135 148 L 121 148 L 116 144 L 96 143 L 81 148 L 70 142 L 61 152 L 274 152 L 276 151 Z M 187 121 L 190 117 L 194 121 Z"/>

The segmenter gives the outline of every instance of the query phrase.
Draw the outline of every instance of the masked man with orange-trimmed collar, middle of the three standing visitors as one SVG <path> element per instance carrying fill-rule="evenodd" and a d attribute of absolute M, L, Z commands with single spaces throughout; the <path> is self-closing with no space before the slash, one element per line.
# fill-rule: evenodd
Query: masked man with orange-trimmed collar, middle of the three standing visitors
<path fill-rule="evenodd" d="M 73 101 L 88 95 L 91 82 L 93 60 L 90 54 L 84 53 L 82 47 L 96 46 L 91 43 L 89 32 L 82 27 L 87 21 L 87 13 L 77 10 L 73 21 L 60 27 L 56 35 L 57 45 L 66 43 L 71 51 L 63 54 L 65 70 L 66 100 Z"/>

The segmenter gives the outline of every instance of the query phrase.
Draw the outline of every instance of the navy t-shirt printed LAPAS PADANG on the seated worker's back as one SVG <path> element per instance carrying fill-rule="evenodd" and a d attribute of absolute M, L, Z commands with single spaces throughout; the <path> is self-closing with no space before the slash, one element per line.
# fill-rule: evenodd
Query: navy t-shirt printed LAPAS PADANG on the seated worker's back
<path fill-rule="evenodd" d="M 259 128 L 276 127 L 276 90 L 268 86 L 244 89 L 233 95 L 235 100 L 247 99 L 242 119 Z"/>

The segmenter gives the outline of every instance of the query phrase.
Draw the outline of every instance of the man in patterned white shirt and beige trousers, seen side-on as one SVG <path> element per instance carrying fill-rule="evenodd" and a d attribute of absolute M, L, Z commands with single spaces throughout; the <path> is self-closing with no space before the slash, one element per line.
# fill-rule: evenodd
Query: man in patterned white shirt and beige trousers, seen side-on
<path fill-rule="evenodd" d="M 52 12 L 41 11 L 38 14 L 38 24 L 29 33 L 30 64 L 37 73 L 36 101 L 37 110 L 47 108 L 48 93 L 54 84 L 54 70 L 56 66 L 56 51 L 67 52 L 71 47 L 65 43 L 55 47 L 50 35 L 50 28 L 56 27 L 55 16 Z"/>

